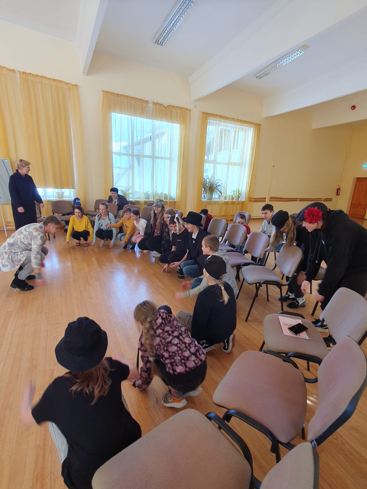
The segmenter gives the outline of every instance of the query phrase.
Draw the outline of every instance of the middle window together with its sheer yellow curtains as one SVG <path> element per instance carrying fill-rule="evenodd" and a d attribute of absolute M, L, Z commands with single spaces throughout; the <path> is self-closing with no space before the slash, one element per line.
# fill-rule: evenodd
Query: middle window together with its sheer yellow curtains
<path fill-rule="evenodd" d="M 102 131 L 106 195 L 114 184 L 140 207 L 160 197 L 185 212 L 188 109 L 103 91 Z"/>

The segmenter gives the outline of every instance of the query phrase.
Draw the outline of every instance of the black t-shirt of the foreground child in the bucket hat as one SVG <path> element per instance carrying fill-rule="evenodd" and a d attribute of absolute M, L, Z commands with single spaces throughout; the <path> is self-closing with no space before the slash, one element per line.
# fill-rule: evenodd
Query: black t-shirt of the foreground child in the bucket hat
<path fill-rule="evenodd" d="M 91 405 L 93 396 L 70 392 L 70 378 L 57 377 L 32 409 L 40 424 L 54 422 L 68 442 L 61 474 L 69 489 L 92 489 L 94 472 L 107 460 L 141 437 L 139 424 L 125 408 L 121 382 L 129 367 L 105 358 L 110 365 L 111 385 L 106 396 Z"/>

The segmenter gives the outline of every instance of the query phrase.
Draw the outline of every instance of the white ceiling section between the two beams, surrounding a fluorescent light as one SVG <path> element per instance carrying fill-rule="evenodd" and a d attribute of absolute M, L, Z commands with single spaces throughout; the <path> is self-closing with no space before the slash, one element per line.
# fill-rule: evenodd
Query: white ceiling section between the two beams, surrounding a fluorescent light
<path fill-rule="evenodd" d="M 96 50 L 189 76 L 276 0 L 196 0 L 162 47 L 153 38 L 177 0 L 109 0 Z"/>

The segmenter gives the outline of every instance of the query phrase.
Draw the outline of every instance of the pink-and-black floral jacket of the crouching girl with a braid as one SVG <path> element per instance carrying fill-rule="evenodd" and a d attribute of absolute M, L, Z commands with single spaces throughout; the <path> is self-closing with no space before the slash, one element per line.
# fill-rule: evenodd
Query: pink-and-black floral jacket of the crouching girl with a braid
<path fill-rule="evenodd" d="M 189 372 L 206 361 L 203 348 L 191 338 L 190 333 L 173 314 L 158 311 L 150 333 L 154 359 L 161 360 L 170 374 Z M 142 334 L 139 338 L 139 350 L 142 366 L 134 385 L 139 390 L 144 390 L 151 383 L 153 374 Z"/>

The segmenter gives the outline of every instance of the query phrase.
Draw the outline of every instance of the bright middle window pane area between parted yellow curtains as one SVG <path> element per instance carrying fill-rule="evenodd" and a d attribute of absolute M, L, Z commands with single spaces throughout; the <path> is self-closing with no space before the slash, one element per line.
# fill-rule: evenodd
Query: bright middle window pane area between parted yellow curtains
<path fill-rule="evenodd" d="M 132 200 L 176 200 L 180 125 L 112 112 L 114 186 Z"/>

